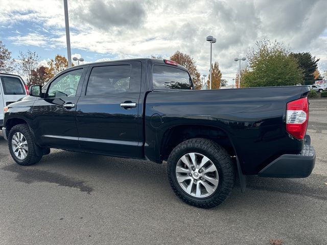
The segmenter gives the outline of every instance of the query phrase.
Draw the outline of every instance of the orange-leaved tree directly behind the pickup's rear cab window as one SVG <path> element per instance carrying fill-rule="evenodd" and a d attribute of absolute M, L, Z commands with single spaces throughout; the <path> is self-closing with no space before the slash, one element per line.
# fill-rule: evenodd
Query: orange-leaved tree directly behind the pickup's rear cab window
<path fill-rule="evenodd" d="M 196 61 L 190 55 L 176 51 L 175 54 L 170 57 L 170 60 L 177 62 L 189 70 L 195 89 L 202 88 L 200 72 L 196 67 Z"/>

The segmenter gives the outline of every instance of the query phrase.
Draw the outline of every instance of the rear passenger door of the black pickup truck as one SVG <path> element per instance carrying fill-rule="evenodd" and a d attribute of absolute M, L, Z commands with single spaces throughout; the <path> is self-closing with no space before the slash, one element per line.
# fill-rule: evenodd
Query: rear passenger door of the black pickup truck
<path fill-rule="evenodd" d="M 82 149 L 110 156 L 143 156 L 141 71 L 139 61 L 90 66 L 77 103 Z"/>

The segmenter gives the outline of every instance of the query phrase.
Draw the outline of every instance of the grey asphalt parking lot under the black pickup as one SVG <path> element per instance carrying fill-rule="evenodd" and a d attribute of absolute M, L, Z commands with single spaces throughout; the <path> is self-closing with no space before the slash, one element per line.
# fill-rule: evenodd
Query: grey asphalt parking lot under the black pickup
<path fill-rule="evenodd" d="M 310 103 L 312 175 L 248 177 L 208 210 L 175 196 L 166 164 L 52 149 L 22 167 L 0 133 L 0 244 L 326 244 L 327 100 Z"/>

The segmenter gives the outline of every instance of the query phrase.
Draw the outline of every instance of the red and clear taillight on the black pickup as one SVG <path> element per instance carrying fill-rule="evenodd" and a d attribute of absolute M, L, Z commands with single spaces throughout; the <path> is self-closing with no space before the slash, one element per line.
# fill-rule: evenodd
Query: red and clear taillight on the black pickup
<path fill-rule="evenodd" d="M 303 139 L 309 120 L 308 97 L 287 103 L 286 131 L 297 139 Z"/>

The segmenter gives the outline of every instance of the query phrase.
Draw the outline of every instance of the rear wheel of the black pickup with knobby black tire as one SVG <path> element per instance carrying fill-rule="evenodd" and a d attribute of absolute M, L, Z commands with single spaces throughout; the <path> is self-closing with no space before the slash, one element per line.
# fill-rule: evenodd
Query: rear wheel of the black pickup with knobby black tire
<path fill-rule="evenodd" d="M 202 159 L 205 159 L 203 162 L 206 163 L 200 167 Z M 197 164 L 195 171 L 192 169 L 193 161 Z M 171 152 L 167 163 L 167 174 L 173 191 L 189 205 L 213 208 L 228 198 L 234 186 L 235 169 L 231 157 L 212 140 L 193 138 L 181 142 Z M 216 170 L 211 171 L 214 169 Z M 184 179 L 185 181 L 181 182 Z"/>

